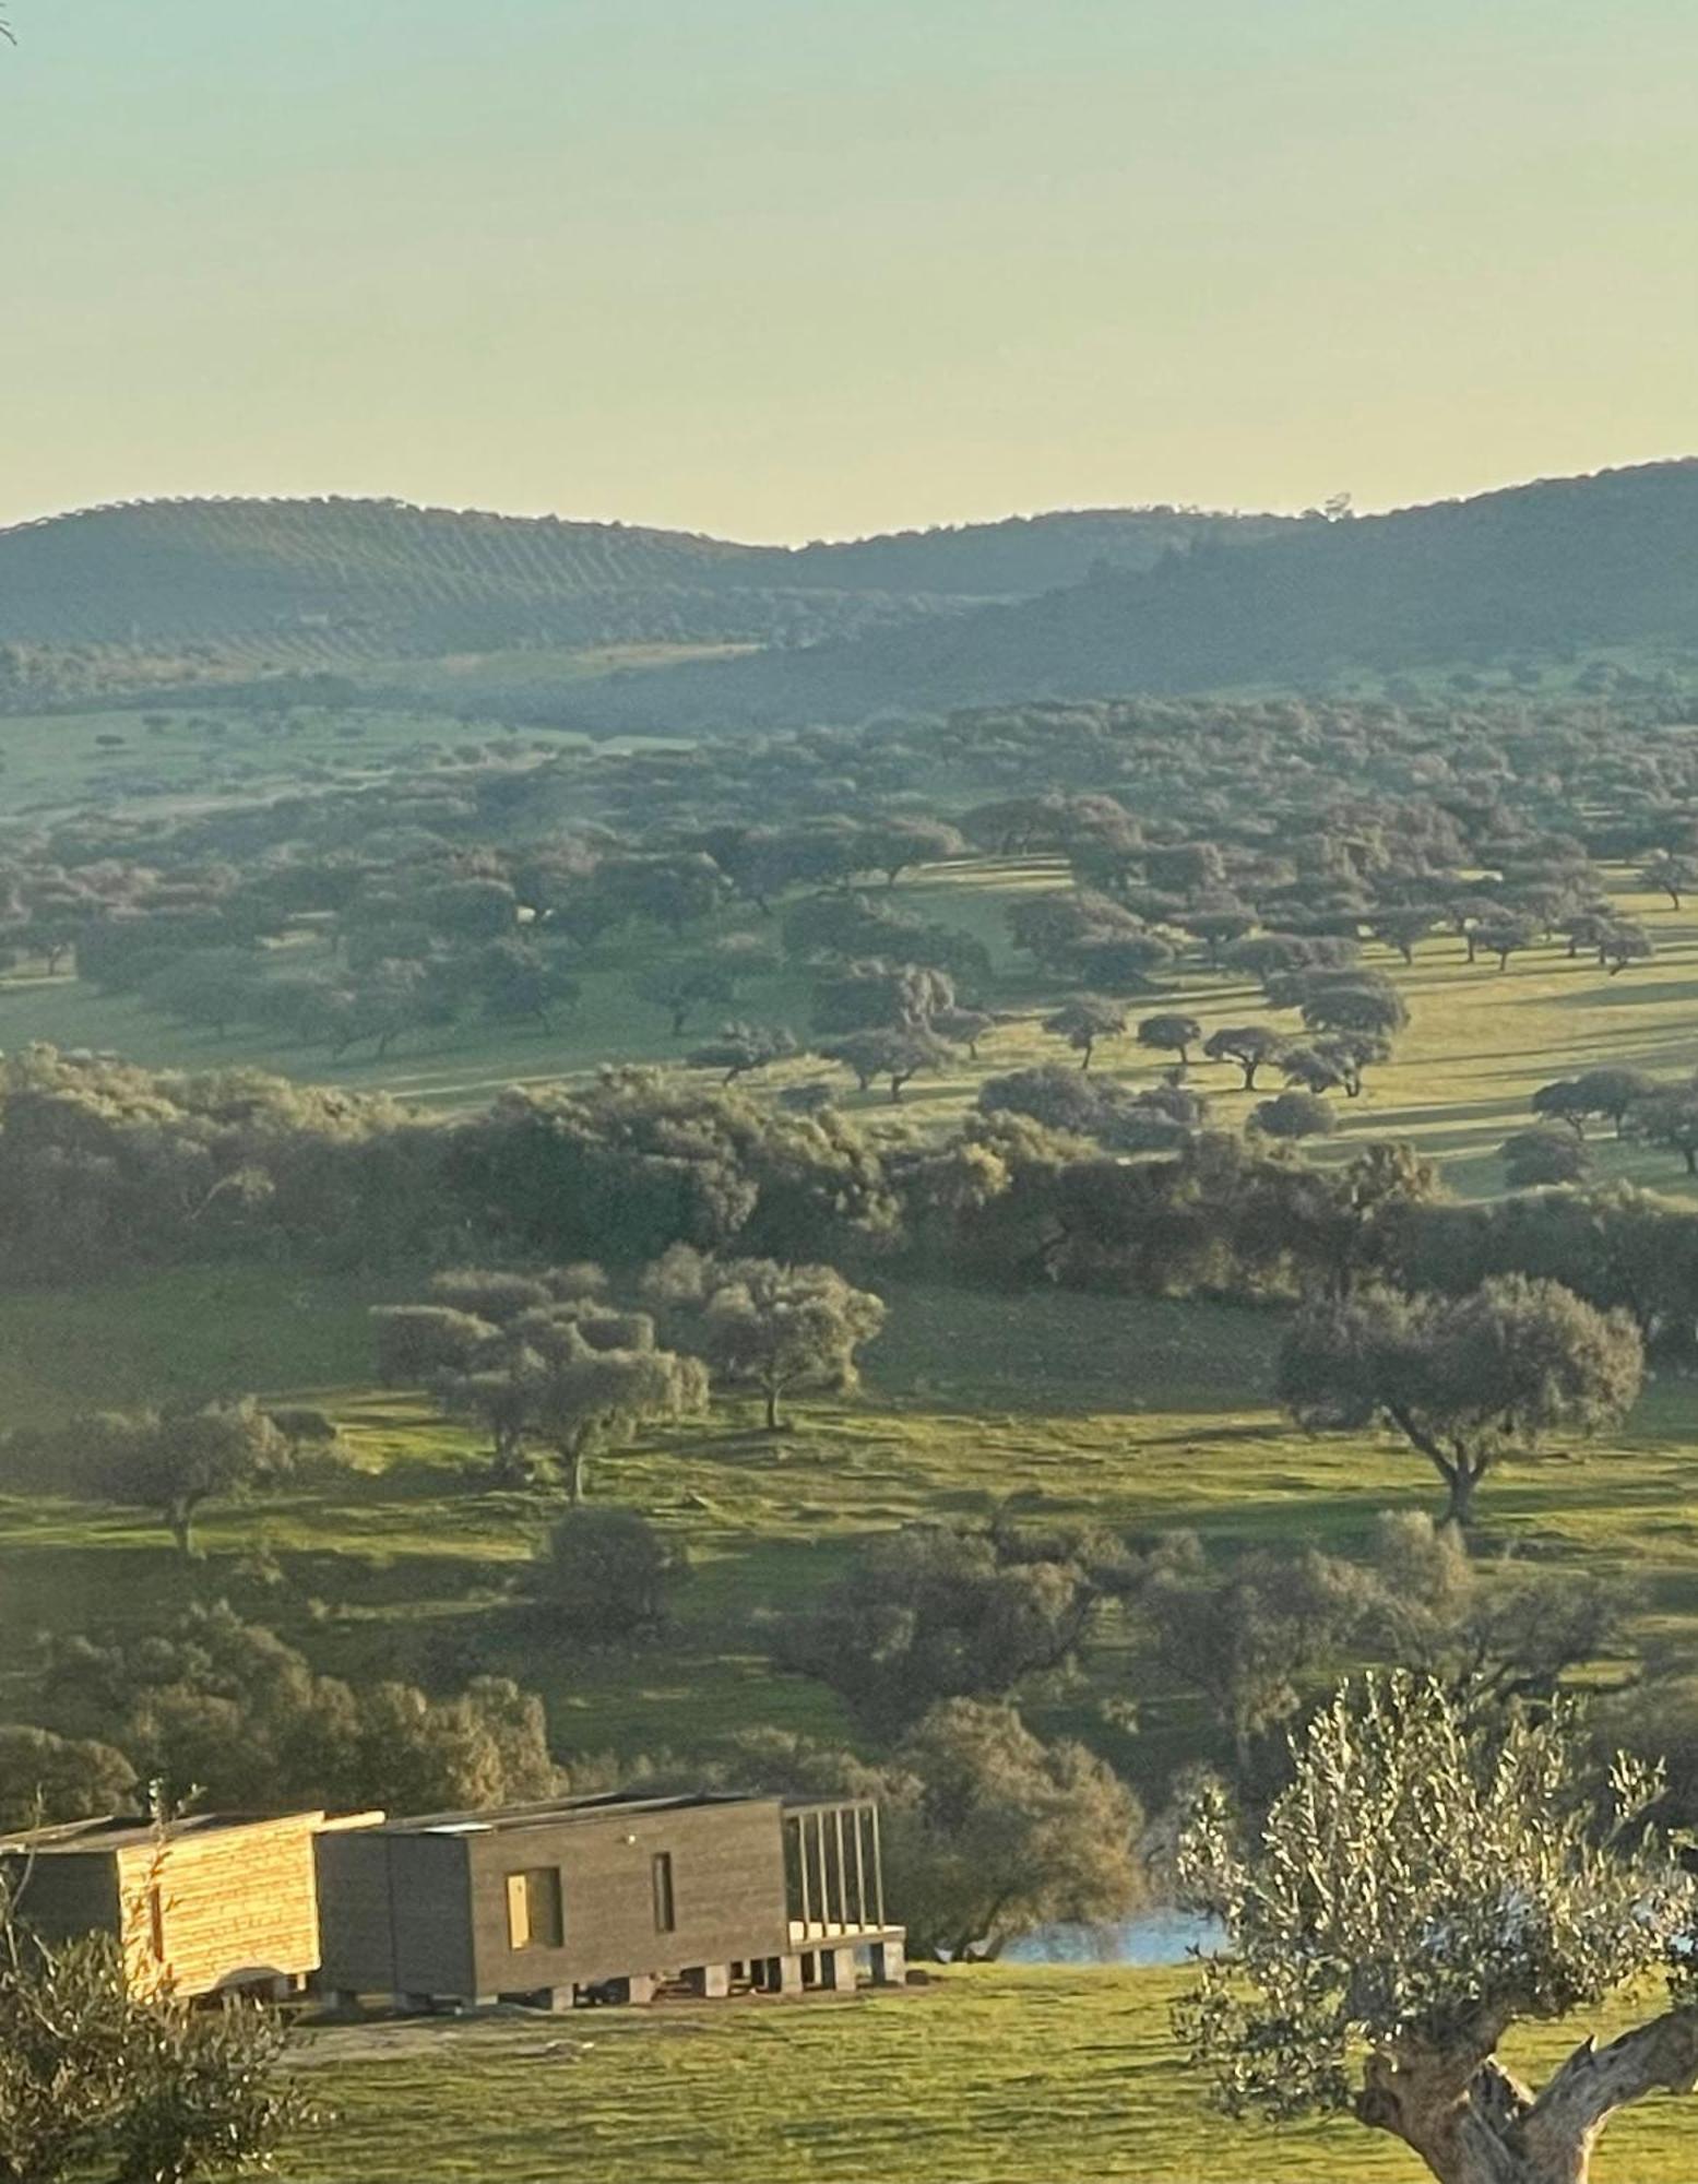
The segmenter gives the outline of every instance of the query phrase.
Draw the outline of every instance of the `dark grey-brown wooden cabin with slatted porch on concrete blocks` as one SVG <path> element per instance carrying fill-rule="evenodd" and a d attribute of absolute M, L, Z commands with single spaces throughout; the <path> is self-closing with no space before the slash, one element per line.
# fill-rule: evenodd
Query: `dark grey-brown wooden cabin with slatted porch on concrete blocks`
<path fill-rule="evenodd" d="M 777 1797 L 574 1797 L 321 1835 L 323 1966 L 349 2007 L 797 1994 L 904 1977 L 877 1811 Z"/>

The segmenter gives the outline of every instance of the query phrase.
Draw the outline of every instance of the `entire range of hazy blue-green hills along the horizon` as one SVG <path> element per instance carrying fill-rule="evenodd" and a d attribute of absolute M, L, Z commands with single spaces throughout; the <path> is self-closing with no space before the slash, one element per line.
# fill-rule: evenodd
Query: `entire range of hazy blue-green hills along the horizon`
<path fill-rule="evenodd" d="M 391 500 L 0 531 L 0 708 L 39 655 L 113 695 L 332 670 L 694 734 L 1611 646 L 1698 649 L 1698 461 L 1340 522 L 1098 509 L 801 548 Z"/>

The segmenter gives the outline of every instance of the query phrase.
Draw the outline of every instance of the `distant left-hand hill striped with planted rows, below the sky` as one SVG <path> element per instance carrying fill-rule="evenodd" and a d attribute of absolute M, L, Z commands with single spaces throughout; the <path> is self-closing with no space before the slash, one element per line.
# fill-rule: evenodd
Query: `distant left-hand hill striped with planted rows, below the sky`
<path fill-rule="evenodd" d="M 0 644 L 179 649 L 249 673 L 546 646 L 792 646 L 1275 526 L 1096 511 L 790 550 L 393 500 L 137 502 L 0 531 Z"/>

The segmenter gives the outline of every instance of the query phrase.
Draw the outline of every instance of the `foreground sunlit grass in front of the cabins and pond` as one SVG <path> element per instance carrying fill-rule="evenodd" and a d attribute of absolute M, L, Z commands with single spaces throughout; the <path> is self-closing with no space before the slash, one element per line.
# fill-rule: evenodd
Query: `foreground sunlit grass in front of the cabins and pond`
<path fill-rule="evenodd" d="M 967 1970 L 890 1996 L 661 2005 L 572 2018 L 310 2035 L 334 2123 L 288 2184 L 1414 2184 L 1388 2138 L 1336 2118 L 1213 2116 L 1168 2003 L 1183 1972 Z M 1541 2073 L 1561 2029 L 1510 2042 Z M 1604 2136 L 1593 2184 L 1689 2184 L 1691 2103 Z"/>

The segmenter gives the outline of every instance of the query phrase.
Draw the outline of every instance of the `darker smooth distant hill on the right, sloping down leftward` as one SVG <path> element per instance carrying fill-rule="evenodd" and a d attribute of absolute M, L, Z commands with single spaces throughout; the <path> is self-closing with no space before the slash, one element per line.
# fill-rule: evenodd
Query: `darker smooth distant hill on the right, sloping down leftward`
<path fill-rule="evenodd" d="M 1643 642 L 1698 646 L 1698 461 L 1296 522 L 1231 550 L 1200 539 L 947 622 L 583 686 L 550 719 L 781 725 Z"/>

